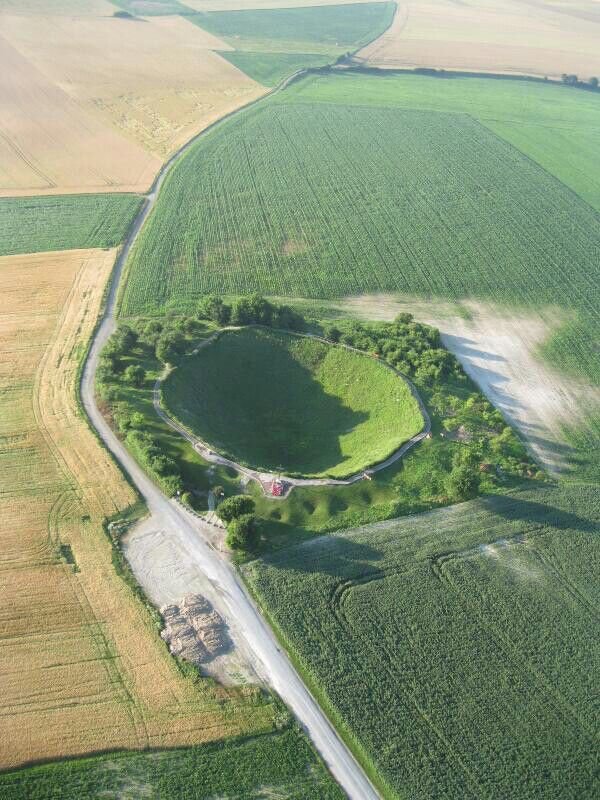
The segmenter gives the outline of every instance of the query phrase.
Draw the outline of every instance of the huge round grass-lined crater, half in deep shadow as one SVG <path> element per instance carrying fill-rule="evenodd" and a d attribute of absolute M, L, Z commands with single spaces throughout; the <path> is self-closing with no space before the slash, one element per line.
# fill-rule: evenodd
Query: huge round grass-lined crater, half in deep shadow
<path fill-rule="evenodd" d="M 165 408 L 238 463 L 346 477 L 423 429 L 408 384 L 375 359 L 261 328 L 230 331 L 184 358 Z"/>

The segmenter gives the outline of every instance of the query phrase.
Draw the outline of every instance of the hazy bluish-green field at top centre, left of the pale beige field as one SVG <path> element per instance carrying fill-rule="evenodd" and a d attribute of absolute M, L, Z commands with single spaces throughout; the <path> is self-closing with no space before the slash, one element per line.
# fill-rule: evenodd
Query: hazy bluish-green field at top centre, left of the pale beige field
<path fill-rule="evenodd" d="M 339 55 L 377 38 L 390 25 L 395 3 L 209 11 L 189 17 L 237 50 Z"/>

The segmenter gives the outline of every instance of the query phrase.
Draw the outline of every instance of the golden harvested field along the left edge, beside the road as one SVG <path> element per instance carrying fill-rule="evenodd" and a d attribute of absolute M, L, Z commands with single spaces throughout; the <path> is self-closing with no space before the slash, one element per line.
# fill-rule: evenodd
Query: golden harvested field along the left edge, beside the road
<path fill-rule="evenodd" d="M 75 383 L 114 256 L 0 258 L 0 768 L 271 725 L 241 692 L 184 679 L 112 566 L 102 521 L 136 498 Z"/>

